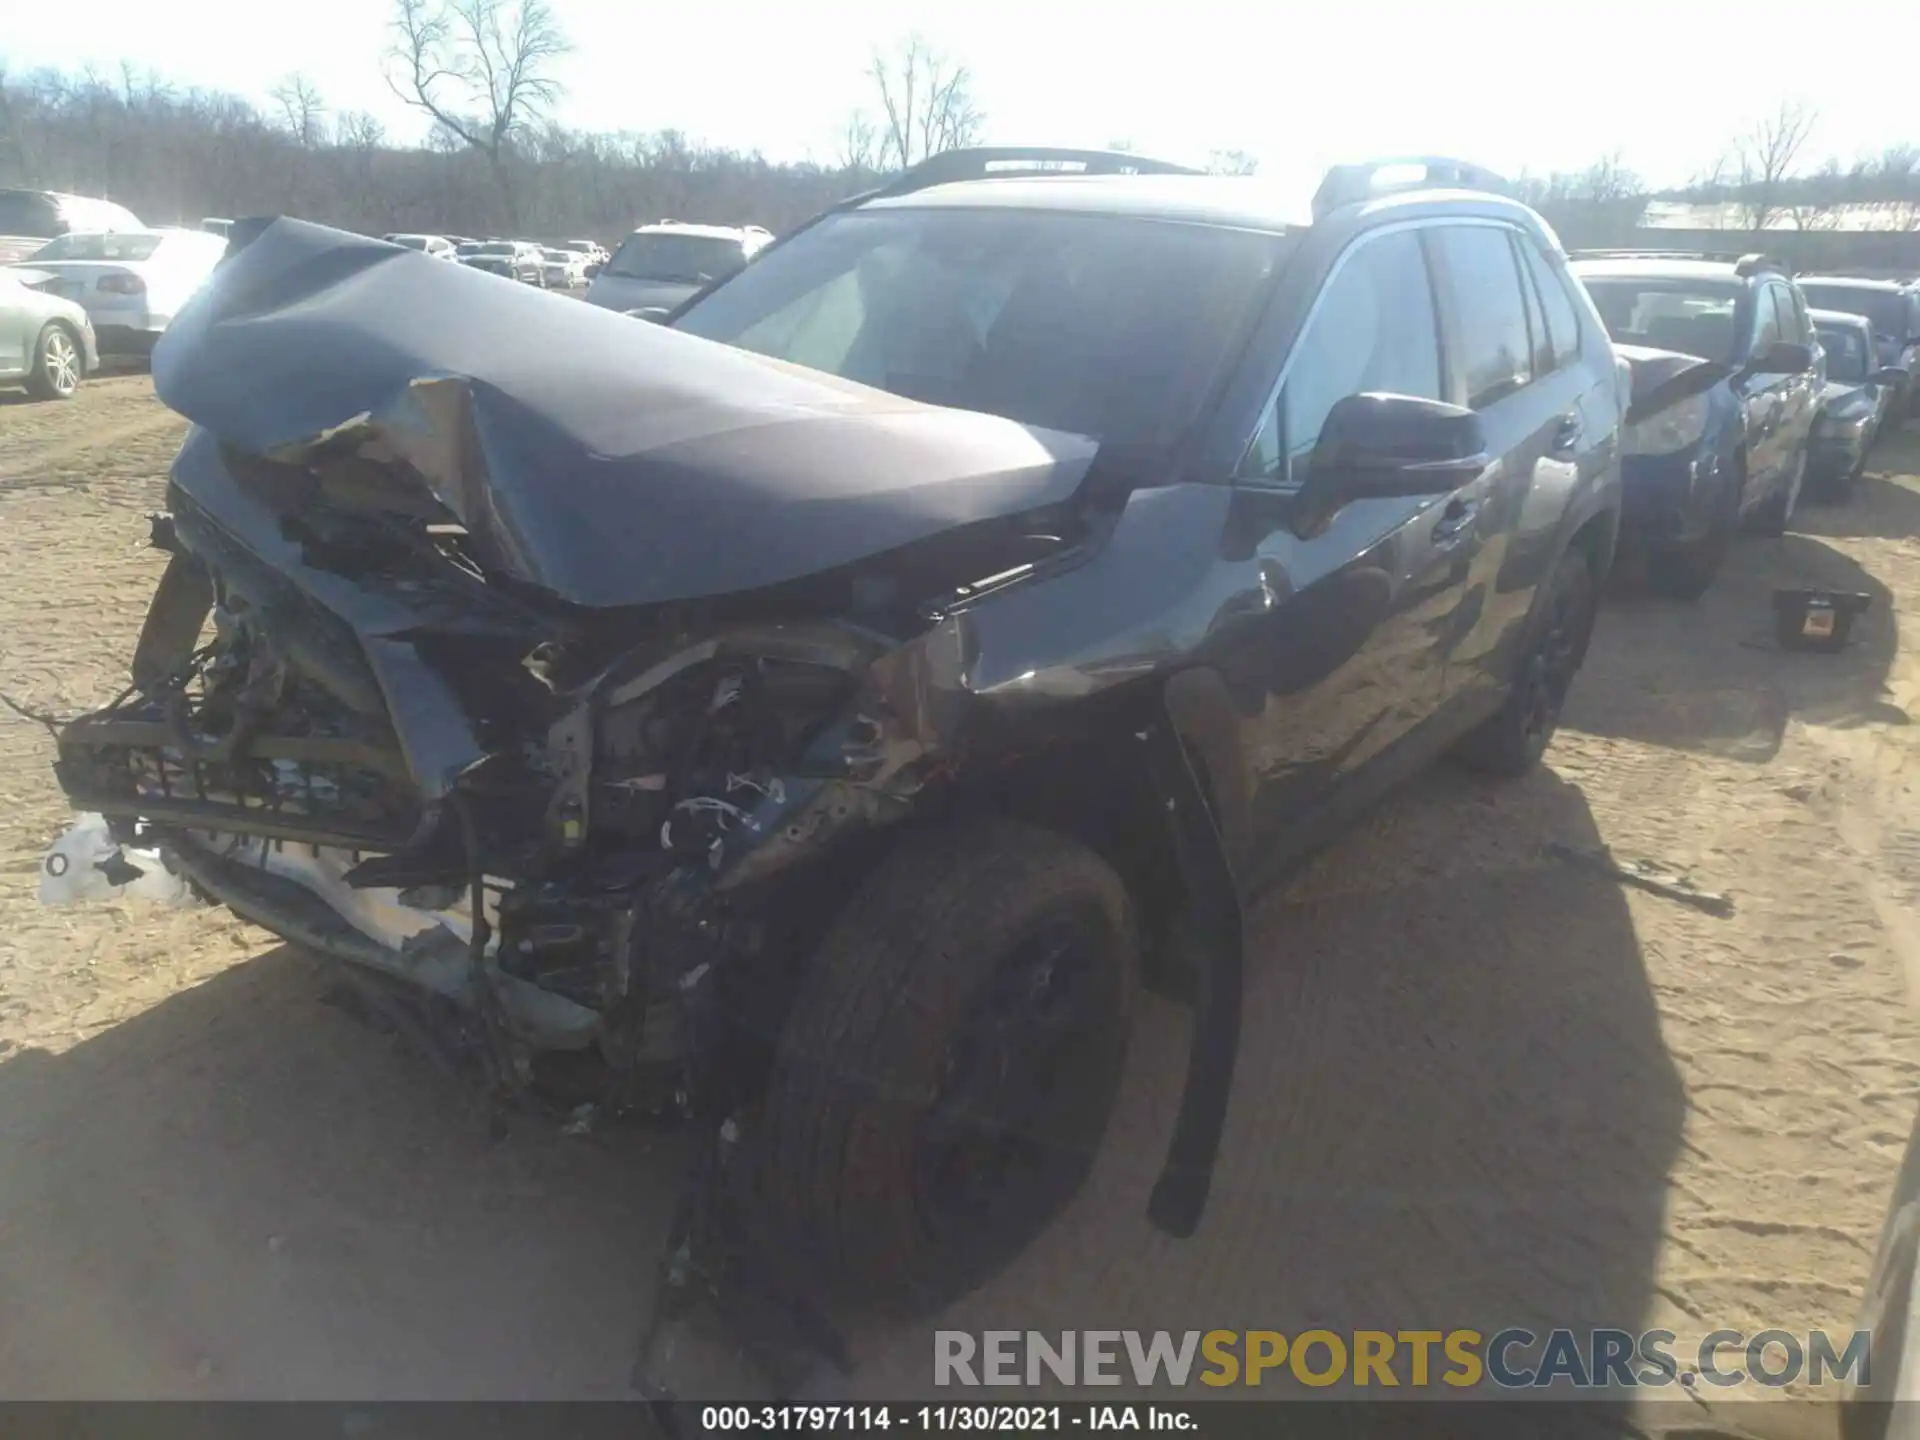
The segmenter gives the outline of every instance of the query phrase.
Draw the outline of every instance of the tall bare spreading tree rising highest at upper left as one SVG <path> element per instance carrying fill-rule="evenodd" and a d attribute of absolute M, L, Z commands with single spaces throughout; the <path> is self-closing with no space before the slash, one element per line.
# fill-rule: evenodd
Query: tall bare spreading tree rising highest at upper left
<path fill-rule="evenodd" d="M 394 0 L 388 84 L 486 156 L 515 227 L 513 144 L 561 96 L 553 65 L 570 48 L 547 0 Z"/>

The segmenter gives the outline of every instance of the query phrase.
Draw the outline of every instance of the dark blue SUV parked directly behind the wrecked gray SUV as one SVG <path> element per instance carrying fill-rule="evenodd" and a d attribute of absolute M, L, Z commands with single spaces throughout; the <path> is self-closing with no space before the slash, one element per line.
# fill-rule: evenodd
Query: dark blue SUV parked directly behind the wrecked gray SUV
<path fill-rule="evenodd" d="M 1703 595 L 1745 522 L 1784 534 L 1820 409 L 1814 328 L 1764 255 L 1576 252 L 1572 273 L 1632 369 L 1622 534 L 1657 589 Z"/>

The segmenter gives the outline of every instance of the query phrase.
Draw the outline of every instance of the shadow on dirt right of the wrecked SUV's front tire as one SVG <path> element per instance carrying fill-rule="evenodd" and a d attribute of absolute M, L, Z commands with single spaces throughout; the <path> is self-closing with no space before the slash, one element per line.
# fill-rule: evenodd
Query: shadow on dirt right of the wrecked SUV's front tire
<path fill-rule="evenodd" d="M 1548 841 L 1597 845 L 1580 791 L 1548 772 L 1494 787 L 1440 770 L 1388 801 L 1250 916 L 1198 1235 L 1146 1221 L 1187 1039 L 1187 1012 L 1150 1002 L 1083 1194 L 937 1321 L 864 1332 L 856 1392 L 958 1398 L 931 1384 L 935 1329 L 1638 1331 L 1682 1087 L 1622 895 L 1544 858 Z M 1404 1352 L 1396 1369 L 1407 1394 Z M 1190 1394 L 1311 1392 L 1281 1371 Z"/>

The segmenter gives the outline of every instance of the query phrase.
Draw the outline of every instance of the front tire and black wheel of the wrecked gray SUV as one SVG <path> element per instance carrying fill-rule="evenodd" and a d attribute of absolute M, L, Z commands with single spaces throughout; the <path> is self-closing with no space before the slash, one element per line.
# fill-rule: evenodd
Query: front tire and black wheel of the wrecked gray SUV
<path fill-rule="evenodd" d="M 1119 1089 L 1133 906 L 1012 822 L 910 839 L 828 931 L 774 1056 L 762 1198 L 849 1298 L 925 1313 L 1073 1198 Z"/>

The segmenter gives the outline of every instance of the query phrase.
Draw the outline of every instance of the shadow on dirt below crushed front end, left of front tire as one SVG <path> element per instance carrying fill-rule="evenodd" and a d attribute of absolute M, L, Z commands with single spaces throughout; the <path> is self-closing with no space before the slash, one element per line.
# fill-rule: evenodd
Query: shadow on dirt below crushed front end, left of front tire
<path fill-rule="evenodd" d="M 490 1142 L 326 975 L 278 947 L 0 1056 L 0 1394 L 624 1394 L 680 1144 Z"/>

